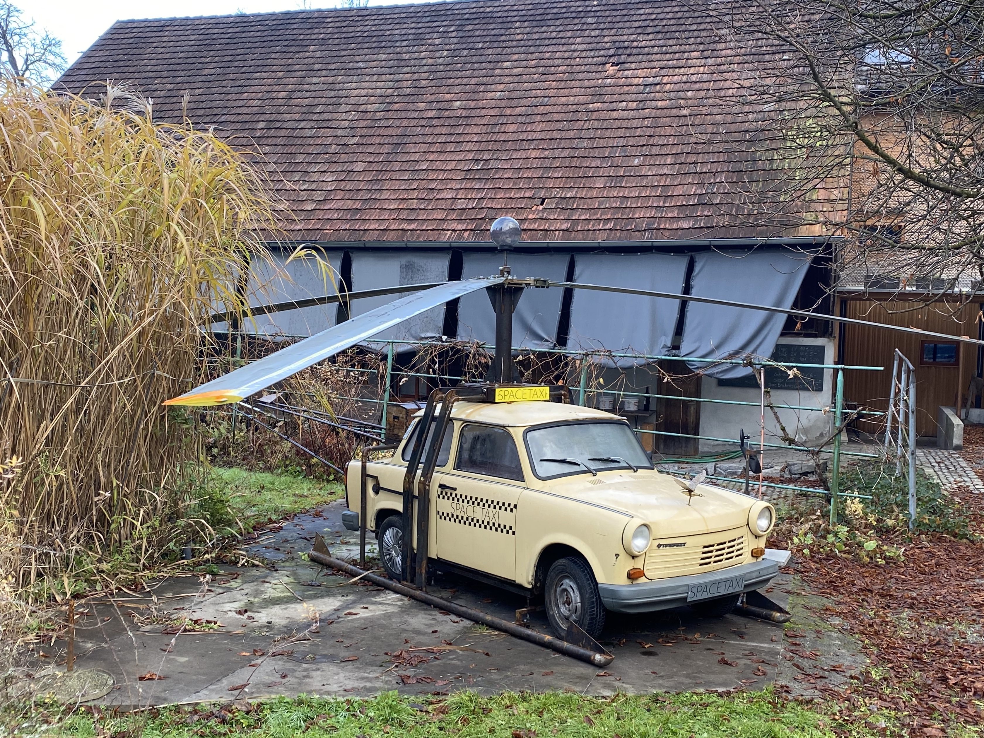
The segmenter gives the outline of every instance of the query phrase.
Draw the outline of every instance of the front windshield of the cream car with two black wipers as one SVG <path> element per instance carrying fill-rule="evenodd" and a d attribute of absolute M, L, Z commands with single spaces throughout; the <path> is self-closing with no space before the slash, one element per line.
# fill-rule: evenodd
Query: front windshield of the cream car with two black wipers
<path fill-rule="evenodd" d="M 530 428 L 525 437 L 529 462 L 541 479 L 616 468 L 652 468 L 652 461 L 627 423 L 548 425 Z"/>

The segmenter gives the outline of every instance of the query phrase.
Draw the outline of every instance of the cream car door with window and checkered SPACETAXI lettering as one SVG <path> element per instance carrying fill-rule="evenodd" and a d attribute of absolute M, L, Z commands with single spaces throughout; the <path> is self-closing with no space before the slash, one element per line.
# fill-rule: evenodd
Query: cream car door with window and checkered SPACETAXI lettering
<path fill-rule="evenodd" d="M 516 511 L 525 487 L 512 434 L 463 424 L 452 469 L 435 476 L 438 558 L 515 581 Z"/>

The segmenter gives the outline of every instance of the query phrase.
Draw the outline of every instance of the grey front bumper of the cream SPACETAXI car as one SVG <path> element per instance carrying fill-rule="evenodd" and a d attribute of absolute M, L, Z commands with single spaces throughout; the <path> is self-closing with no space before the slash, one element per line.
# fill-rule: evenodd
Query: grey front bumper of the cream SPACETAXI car
<path fill-rule="evenodd" d="M 745 587 L 741 591 L 748 592 L 769 584 L 778 573 L 778 562 L 762 559 L 707 574 L 671 577 L 645 584 L 598 584 L 598 593 L 605 607 L 612 612 L 655 612 L 687 604 L 687 592 L 694 584 L 706 586 L 744 576 Z"/>

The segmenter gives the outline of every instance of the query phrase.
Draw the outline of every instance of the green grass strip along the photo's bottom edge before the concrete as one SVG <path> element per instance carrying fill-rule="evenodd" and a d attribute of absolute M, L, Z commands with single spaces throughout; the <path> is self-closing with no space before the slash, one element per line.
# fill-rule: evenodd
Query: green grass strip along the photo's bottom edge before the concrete
<path fill-rule="evenodd" d="M 771 691 L 686 693 L 585 698 L 573 693 L 506 693 L 479 697 L 459 692 L 444 699 L 400 697 L 389 692 L 374 699 L 280 698 L 248 709 L 167 707 L 137 714 L 77 713 L 49 718 L 52 736 L 103 735 L 190 738 L 241 735 L 255 738 L 407 738 L 493 735 L 506 738 L 571 736 L 594 738 L 834 738 L 885 735 L 868 721 L 845 723 L 832 703 L 800 703 Z M 866 717 L 871 717 L 868 713 Z M 42 734 L 45 731 L 41 731 Z"/>

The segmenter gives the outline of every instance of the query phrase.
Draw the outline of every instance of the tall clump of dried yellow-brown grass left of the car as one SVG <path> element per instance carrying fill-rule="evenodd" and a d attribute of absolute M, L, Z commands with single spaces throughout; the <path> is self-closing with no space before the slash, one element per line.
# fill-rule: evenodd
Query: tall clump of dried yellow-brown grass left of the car
<path fill-rule="evenodd" d="M 60 596 L 174 542 L 197 451 L 160 403 L 201 376 L 207 316 L 241 308 L 275 204 L 243 154 L 120 89 L 0 82 L 0 181 L 0 460 L 23 460 L 0 521 L 17 585 Z"/>

